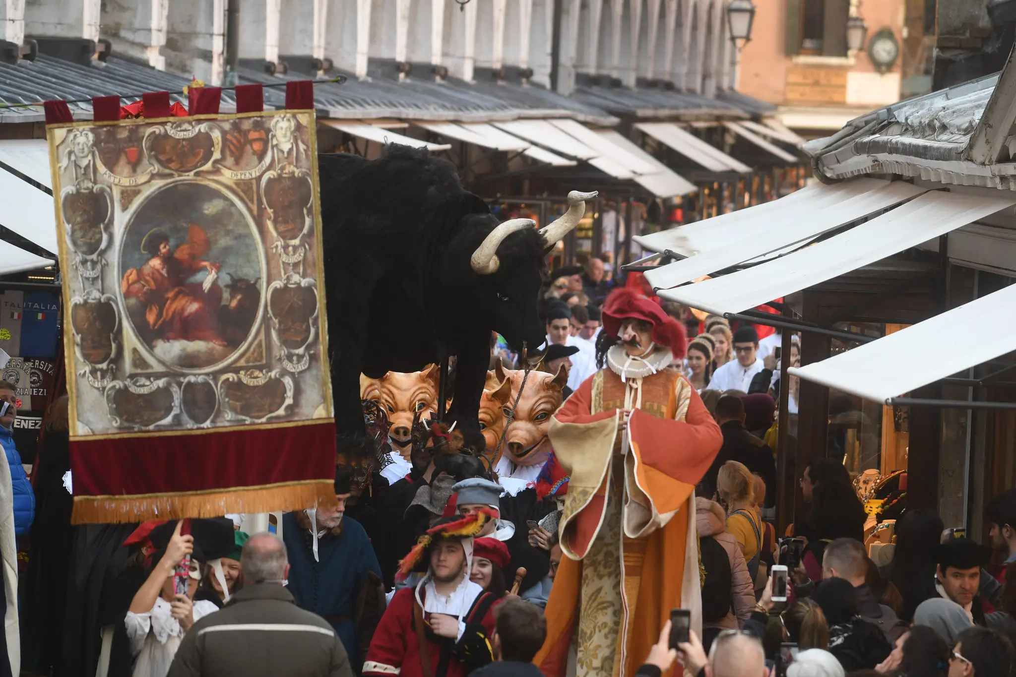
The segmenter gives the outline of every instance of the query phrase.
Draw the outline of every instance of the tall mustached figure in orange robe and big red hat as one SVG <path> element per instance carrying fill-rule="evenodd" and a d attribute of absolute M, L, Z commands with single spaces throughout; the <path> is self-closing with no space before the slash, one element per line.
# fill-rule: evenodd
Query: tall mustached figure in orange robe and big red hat
<path fill-rule="evenodd" d="M 689 609 L 701 636 L 694 488 L 723 438 L 692 385 L 669 368 L 685 353 L 677 321 L 633 289 L 608 297 L 602 321 L 599 370 L 550 425 L 570 481 L 565 556 L 533 660 L 548 677 L 631 677 L 672 609 Z"/>

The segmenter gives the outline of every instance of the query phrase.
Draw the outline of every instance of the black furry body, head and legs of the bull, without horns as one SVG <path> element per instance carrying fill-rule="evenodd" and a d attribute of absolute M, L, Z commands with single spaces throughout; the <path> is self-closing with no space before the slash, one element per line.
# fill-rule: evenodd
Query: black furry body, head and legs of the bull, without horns
<path fill-rule="evenodd" d="M 546 252 L 535 229 L 498 249 L 500 269 L 478 275 L 469 257 L 498 224 L 462 188 L 451 162 L 388 146 L 382 157 L 321 154 L 328 341 L 339 451 L 367 454 L 360 373 L 416 371 L 457 355 L 449 420 L 482 449 L 477 413 L 490 332 L 513 346 L 543 343 L 536 298 Z"/>

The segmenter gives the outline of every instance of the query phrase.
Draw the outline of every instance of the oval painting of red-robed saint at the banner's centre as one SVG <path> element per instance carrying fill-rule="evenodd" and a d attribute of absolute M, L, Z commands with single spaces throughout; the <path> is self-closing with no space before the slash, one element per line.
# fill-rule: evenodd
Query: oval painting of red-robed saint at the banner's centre
<path fill-rule="evenodd" d="M 261 308 L 260 251 L 246 210 L 212 186 L 170 184 L 138 207 L 122 241 L 120 288 L 161 362 L 201 369 L 247 341 Z"/>

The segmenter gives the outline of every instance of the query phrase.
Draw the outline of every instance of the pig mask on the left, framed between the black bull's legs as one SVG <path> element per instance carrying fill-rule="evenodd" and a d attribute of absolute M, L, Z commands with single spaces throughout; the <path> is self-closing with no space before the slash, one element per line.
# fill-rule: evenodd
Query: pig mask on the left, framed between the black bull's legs
<path fill-rule="evenodd" d="M 440 369 L 431 364 L 423 371 L 389 371 L 380 379 L 360 375 L 360 397 L 378 402 L 388 414 L 388 436 L 392 449 L 409 460 L 412 416 L 427 419 L 437 411 Z"/>

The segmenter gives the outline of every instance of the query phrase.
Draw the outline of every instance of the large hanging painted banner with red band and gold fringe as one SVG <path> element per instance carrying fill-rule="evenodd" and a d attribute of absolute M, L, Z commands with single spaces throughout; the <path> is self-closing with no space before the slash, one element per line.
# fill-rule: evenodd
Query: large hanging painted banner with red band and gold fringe
<path fill-rule="evenodd" d="M 314 126 L 48 127 L 75 523 L 334 499 Z"/>

